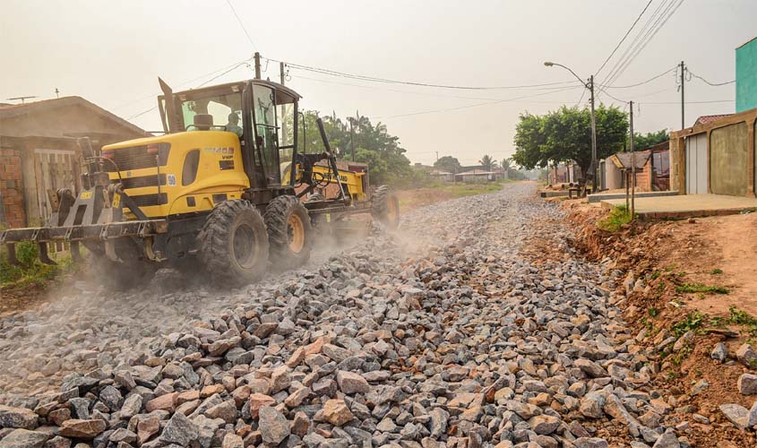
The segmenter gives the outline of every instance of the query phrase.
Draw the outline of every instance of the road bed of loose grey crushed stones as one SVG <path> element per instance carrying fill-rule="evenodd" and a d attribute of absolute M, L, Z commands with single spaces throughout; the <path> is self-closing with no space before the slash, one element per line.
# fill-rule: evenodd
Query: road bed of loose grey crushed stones
<path fill-rule="evenodd" d="M 0 446 L 686 446 L 619 273 L 541 235 L 562 212 L 534 189 L 413 211 L 245 289 L 168 274 L 4 318 Z M 525 254 L 535 238 L 569 256 Z"/>

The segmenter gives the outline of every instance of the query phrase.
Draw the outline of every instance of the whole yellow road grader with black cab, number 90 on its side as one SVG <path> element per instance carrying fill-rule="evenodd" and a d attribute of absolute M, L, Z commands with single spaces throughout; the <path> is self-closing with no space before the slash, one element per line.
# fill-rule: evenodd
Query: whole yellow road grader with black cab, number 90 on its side
<path fill-rule="evenodd" d="M 166 134 L 101 151 L 80 139 L 82 192 L 58 190 L 45 227 L 0 233 L 11 263 L 20 241 L 36 242 L 44 263 L 54 263 L 48 243 L 68 241 L 74 261 L 81 243 L 122 285 L 163 263 L 199 264 L 215 282 L 241 285 L 259 279 L 269 260 L 305 263 L 314 223 L 370 212 L 397 226 L 397 198 L 386 186 L 370 194 L 361 174 L 337 167 L 320 119 L 326 150 L 298 151 L 294 90 L 262 80 L 179 92 L 159 83 Z M 335 197 L 314 194 L 327 184 L 339 185 Z"/>

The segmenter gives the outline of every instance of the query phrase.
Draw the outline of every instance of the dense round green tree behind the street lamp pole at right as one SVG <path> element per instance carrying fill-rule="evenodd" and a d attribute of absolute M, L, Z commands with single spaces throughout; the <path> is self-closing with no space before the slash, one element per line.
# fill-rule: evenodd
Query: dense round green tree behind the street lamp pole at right
<path fill-rule="evenodd" d="M 596 110 L 597 157 L 622 151 L 628 132 L 626 115 L 618 108 Z M 591 116 L 588 108 L 562 107 L 546 116 L 521 114 L 512 159 L 523 168 L 544 168 L 575 160 L 586 173 L 591 164 Z"/>

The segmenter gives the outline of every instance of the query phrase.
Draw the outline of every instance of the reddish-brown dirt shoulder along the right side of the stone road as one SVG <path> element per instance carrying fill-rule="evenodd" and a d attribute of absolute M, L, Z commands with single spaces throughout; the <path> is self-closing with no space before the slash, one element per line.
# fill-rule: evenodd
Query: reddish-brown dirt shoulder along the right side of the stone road
<path fill-rule="evenodd" d="M 757 215 L 634 222 L 615 233 L 597 227 L 606 211 L 567 201 L 572 245 L 594 261 L 609 258 L 623 271 L 616 293 L 642 349 L 657 359 L 655 387 L 664 391 L 666 418 L 688 426 L 696 446 L 757 446 L 754 433 L 726 418 L 720 405 L 750 409 L 757 395 L 739 392 L 744 373 L 736 356 L 757 342 Z M 710 356 L 725 344 L 727 359 Z"/>

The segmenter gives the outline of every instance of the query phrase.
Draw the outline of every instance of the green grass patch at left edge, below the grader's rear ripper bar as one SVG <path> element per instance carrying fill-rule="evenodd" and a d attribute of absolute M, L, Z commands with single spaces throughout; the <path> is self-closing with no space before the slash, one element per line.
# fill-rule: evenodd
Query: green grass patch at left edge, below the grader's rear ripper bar
<path fill-rule="evenodd" d="M 16 244 L 16 258 L 22 263 L 21 266 L 9 263 L 7 250 L 0 248 L 0 289 L 42 285 L 68 269 L 71 264 L 71 256 L 68 254 L 58 256 L 56 265 L 41 263 L 37 245 L 30 241 Z"/>

